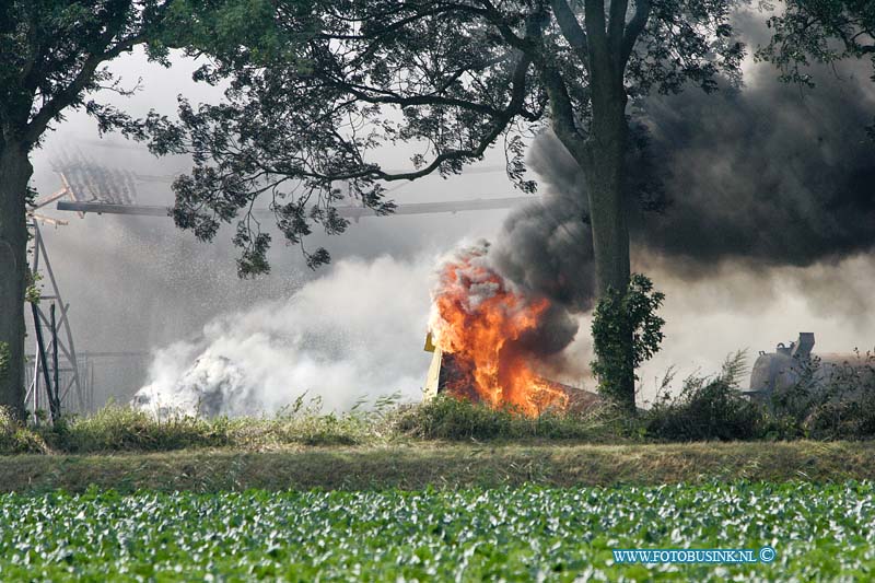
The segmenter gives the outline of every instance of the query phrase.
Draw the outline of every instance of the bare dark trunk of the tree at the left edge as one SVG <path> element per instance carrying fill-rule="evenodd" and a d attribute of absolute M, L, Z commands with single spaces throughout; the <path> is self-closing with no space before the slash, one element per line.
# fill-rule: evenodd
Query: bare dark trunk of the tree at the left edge
<path fill-rule="evenodd" d="M 27 277 L 26 148 L 0 147 L 0 406 L 24 418 L 24 292 Z"/>

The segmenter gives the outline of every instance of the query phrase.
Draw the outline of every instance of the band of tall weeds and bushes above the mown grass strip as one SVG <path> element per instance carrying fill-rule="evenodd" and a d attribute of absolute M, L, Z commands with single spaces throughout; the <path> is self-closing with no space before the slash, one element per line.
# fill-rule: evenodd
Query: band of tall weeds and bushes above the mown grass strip
<path fill-rule="evenodd" d="M 742 354 L 713 377 L 692 376 L 673 396 L 630 416 L 607 404 L 584 411 L 527 417 L 439 396 L 398 405 L 381 399 L 346 413 L 322 412 L 318 400 L 299 399 L 278 415 L 160 419 L 109 405 L 93 416 L 22 424 L 0 411 L 0 454 L 160 452 L 199 447 L 266 451 L 288 446 L 373 446 L 428 441 L 666 443 L 696 441 L 870 440 L 875 436 L 872 376 L 844 376 L 818 390 L 793 387 L 768 403 L 738 390 Z M 867 381 L 861 382 L 861 378 Z M 801 383 L 806 383 L 803 378 Z"/>

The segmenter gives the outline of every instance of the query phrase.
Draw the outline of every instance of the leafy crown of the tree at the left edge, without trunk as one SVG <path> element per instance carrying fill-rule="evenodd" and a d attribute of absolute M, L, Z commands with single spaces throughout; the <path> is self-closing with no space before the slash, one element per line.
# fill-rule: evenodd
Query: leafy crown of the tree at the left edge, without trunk
<path fill-rule="evenodd" d="M 0 8 L 0 147 L 36 145 L 69 109 L 84 108 L 101 130 L 132 121 L 89 95 L 130 93 L 105 63 L 156 35 L 170 0 L 12 0 Z M 167 63 L 167 50 L 149 46 Z M 130 127 L 130 126 L 128 126 Z"/>

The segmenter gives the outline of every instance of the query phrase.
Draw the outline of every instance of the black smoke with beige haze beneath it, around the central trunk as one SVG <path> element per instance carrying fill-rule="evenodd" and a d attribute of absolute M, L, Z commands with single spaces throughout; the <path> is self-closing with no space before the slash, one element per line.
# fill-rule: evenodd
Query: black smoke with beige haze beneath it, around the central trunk
<path fill-rule="evenodd" d="M 768 40 L 756 23 L 738 19 L 754 46 Z M 639 145 L 627 173 L 632 263 L 669 295 L 666 350 L 644 378 L 712 346 L 726 350 L 728 338 L 736 348 L 757 346 L 763 330 L 773 337 L 771 316 L 781 312 L 788 341 L 804 329 L 816 331 L 819 348 L 875 345 L 867 334 L 875 282 L 871 74 L 868 61 L 821 67 L 817 89 L 801 92 L 778 82 L 769 66 L 748 66 L 742 88 L 723 83 L 712 95 L 690 90 L 638 104 Z M 586 328 L 580 315 L 595 301 L 591 234 L 581 221 L 588 214 L 585 177 L 550 132 L 535 140 L 529 165 L 546 196 L 510 214 L 492 260 L 526 293 L 555 302 L 536 346 L 555 373 L 583 376 L 587 339 L 570 340 L 570 330 L 575 322 Z M 759 313 L 739 318 L 750 311 Z M 713 324 L 701 327 L 707 319 Z M 564 342 L 575 345 L 557 359 Z"/>

